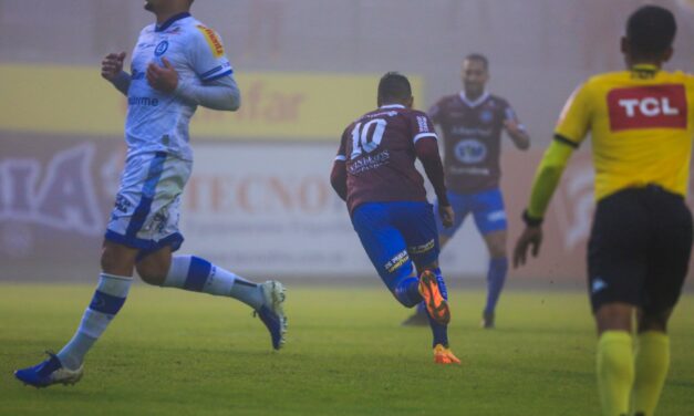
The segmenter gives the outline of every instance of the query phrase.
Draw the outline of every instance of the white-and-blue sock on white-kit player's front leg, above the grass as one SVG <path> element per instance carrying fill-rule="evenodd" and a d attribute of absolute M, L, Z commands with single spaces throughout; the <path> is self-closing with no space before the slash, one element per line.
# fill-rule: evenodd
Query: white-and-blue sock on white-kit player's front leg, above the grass
<path fill-rule="evenodd" d="M 77 332 L 56 354 L 63 366 L 74 371 L 82 365 L 86 353 L 125 303 L 132 283 L 131 277 L 101 273 L 96 292 L 84 311 Z"/>

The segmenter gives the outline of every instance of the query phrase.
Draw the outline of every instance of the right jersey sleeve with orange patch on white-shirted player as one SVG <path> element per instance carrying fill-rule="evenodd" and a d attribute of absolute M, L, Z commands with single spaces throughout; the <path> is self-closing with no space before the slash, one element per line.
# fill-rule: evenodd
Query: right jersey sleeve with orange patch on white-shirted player
<path fill-rule="evenodd" d="M 234 73 L 221 39 L 214 30 L 198 24 L 194 37 L 190 65 L 203 82 L 209 82 Z"/>

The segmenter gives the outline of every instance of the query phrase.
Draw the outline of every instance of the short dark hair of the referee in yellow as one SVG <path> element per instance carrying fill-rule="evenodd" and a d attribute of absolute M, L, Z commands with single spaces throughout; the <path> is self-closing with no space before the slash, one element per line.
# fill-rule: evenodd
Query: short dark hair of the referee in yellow
<path fill-rule="evenodd" d="M 675 17 L 660 6 L 644 6 L 626 21 L 626 39 L 636 55 L 662 55 L 672 46 L 676 32 Z"/>

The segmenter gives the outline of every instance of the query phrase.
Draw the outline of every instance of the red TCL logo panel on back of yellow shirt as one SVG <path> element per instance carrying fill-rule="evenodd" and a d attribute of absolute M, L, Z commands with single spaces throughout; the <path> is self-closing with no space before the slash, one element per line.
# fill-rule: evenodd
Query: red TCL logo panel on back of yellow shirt
<path fill-rule="evenodd" d="M 612 132 L 634 128 L 686 128 L 684 85 L 612 90 L 608 94 Z"/>

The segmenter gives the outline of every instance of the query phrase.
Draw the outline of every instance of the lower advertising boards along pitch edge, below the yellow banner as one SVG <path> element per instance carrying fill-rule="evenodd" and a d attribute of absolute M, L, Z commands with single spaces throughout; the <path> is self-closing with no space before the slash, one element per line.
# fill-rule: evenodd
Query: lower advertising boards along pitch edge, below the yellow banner
<path fill-rule="evenodd" d="M 84 280 L 97 272 L 104 227 L 117 191 L 121 137 L 0 132 L 1 280 Z M 333 144 L 200 142 L 184 195 L 182 252 L 257 277 L 374 275 L 329 173 Z M 510 239 L 521 229 L 541 149 L 504 153 Z M 594 207 L 590 157 L 567 168 L 546 220 L 539 259 L 511 279 L 578 281 Z M 484 277 L 487 254 L 470 219 L 442 254 L 450 278 Z"/>

